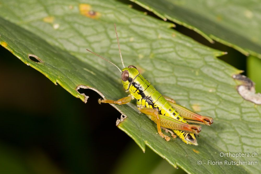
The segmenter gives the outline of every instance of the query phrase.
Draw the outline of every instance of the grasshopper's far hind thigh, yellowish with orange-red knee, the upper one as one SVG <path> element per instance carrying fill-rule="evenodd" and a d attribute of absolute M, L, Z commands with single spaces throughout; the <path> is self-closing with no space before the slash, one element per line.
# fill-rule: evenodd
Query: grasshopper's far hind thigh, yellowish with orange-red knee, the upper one
<path fill-rule="evenodd" d="M 176 104 L 176 101 L 169 97 L 164 96 L 164 98 L 171 104 L 172 107 L 174 107 L 174 109 L 177 112 L 180 113 L 180 115 L 184 119 L 186 119 L 187 122 L 205 124 L 208 126 L 213 123 L 212 117 L 199 115 L 199 114 L 187 109 L 186 107 Z"/>

